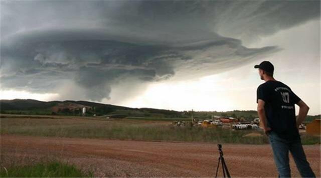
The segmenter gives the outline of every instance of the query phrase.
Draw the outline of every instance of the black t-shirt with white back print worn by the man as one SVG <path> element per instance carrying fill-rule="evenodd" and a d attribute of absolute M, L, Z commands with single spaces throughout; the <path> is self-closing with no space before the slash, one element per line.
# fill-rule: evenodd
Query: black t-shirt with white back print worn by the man
<path fill-rule="evenodd" d="M 280 81 L 268 80 L 257 88 L 257 99 L 264 100 L 267 126 L 281 138 L 297 139 L 295 106 L 301 99 Z"/>

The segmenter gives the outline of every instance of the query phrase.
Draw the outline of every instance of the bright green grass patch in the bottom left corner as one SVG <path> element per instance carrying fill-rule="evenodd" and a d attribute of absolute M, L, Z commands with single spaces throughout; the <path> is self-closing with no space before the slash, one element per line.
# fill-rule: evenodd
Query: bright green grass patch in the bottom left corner
<path fill-rule="evenodd" d="M 93 177 L 92 172 L 83 172 L 75 165 L 60 161 L 1 167 L 0 177 Z"/>

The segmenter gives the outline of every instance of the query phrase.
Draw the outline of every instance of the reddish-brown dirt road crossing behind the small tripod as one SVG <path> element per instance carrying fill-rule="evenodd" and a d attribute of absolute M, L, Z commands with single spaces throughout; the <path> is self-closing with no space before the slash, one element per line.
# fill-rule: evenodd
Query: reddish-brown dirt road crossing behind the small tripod
<path fill-rule="evenodd" d="M 303 147 L 320 176 L 320 145 Z M 277 177 L 269 144 L 223 144 L 223 152 L 232 177 Z M 1 156 L 4 164 L 9 157 L 56 157 L 95 169 L 95 176 L 213 177 L 219 152 L 211 143 L 1 135 Z M 290 166 L 292 177 L 300 177 L 291 156 Z"/>

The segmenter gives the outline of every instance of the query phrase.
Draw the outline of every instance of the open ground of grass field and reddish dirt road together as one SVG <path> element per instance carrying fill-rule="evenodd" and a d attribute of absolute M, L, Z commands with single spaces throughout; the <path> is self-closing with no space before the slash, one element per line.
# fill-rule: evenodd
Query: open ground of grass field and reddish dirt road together
<path fill-rule="evenodd" d="M 59 159 L 94 176 L 210 177 L 219 152 L 237 177 L 275 177 L 267 137 L 259 130 L 178 127 L 159 118 L 2 114 L 1 166 Z M 244 136 L 250 133 L 261 136 Z M 302 135 L 307 159 L 320 176 L 319 137 Z M 292 176 L 300 176 L 290 157 Z M 222 176 L 219 169 L 219 176 Z"/>

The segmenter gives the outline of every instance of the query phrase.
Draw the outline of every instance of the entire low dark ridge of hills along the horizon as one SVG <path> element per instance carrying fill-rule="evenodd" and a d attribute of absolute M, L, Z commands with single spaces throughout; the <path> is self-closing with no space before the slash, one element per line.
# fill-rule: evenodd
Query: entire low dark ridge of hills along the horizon
<path fill-rule="evenodd" d="M 39 101 L 35 99 L 1 99 L 0 112 L 11 114 L 44 114 L 44 115 L 81 115 L 82 108 L 86 107 L 87 116 L 121 115 L 134 117 L 171 117 L 171 118 L 194 118 L 207 119 L 213 116 L 243 117 L 246 120 L 257 118 L 256 110 L 233 110 L 219 111 L 176 111 L 156 108 L 132 108 L 112 104 L 104 104 L 90 101 Z M 320 115 L 308 115 L 305 121 L 320 118 Z"/>

